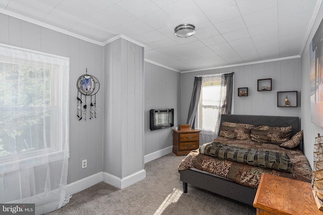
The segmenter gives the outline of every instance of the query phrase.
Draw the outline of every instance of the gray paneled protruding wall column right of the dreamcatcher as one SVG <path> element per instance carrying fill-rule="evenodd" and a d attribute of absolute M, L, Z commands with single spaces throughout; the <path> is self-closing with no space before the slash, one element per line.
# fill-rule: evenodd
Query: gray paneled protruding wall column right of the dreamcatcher
<path fill-rule="evenodd" d="M 143 170 L 143 47 L 125 39 L 104 47 L 103 171 L 121 179 Z"/>

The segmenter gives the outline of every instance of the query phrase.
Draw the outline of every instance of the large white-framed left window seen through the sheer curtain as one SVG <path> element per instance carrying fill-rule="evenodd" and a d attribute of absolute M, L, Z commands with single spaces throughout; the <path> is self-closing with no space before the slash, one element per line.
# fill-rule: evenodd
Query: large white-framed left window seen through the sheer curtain
<path fill-rule="evenodd" d="M 0 80 L 0 164 L 62 152 L 69 60 L 1 45 Z"/>

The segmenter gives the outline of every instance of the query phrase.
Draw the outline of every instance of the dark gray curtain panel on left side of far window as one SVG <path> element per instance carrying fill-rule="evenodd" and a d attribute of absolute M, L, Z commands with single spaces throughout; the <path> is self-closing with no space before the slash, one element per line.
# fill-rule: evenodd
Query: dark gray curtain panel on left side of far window
<path fill-rule="evenodd" d="M 191 125 L 191 128 L 195 128 L 195 116 L 198 106 L 198 100 L 200 99 L 201 85 L 202 77 L 195 77 L 191 104 L 187 116 L 187 124 Z"/>

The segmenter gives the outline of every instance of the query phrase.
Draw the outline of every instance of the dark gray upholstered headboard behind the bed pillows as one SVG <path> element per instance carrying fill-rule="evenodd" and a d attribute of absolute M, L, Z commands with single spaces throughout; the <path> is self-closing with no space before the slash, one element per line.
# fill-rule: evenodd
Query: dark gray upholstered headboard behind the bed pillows
<path fill-rule="evenodd" d="M 237 122 L 252 125 L 268 125 L 273 127 L 293 127 L 292 135 L 300 131 L 300 121 L 296 116 L 261 116 L 261 115 L 238 115 L 238 114 L 222 114 L 219 132 L 221 131 L 222 122 Z M 299 145 L 299 149 L 303 151 L 303 142 Z"/>

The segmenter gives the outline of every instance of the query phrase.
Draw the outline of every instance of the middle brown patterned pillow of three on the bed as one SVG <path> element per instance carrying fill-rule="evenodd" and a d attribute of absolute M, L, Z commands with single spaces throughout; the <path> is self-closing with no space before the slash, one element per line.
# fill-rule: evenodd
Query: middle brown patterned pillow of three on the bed
<path fill-rule="evenodd" d="M 292 135 L 292 126 L 288 127 L 271 127 L 267 125 L 259 125 L 251 129 L 251 140 L 256 142 L 268 142 L 280 145 L 290 139 Z"/>

